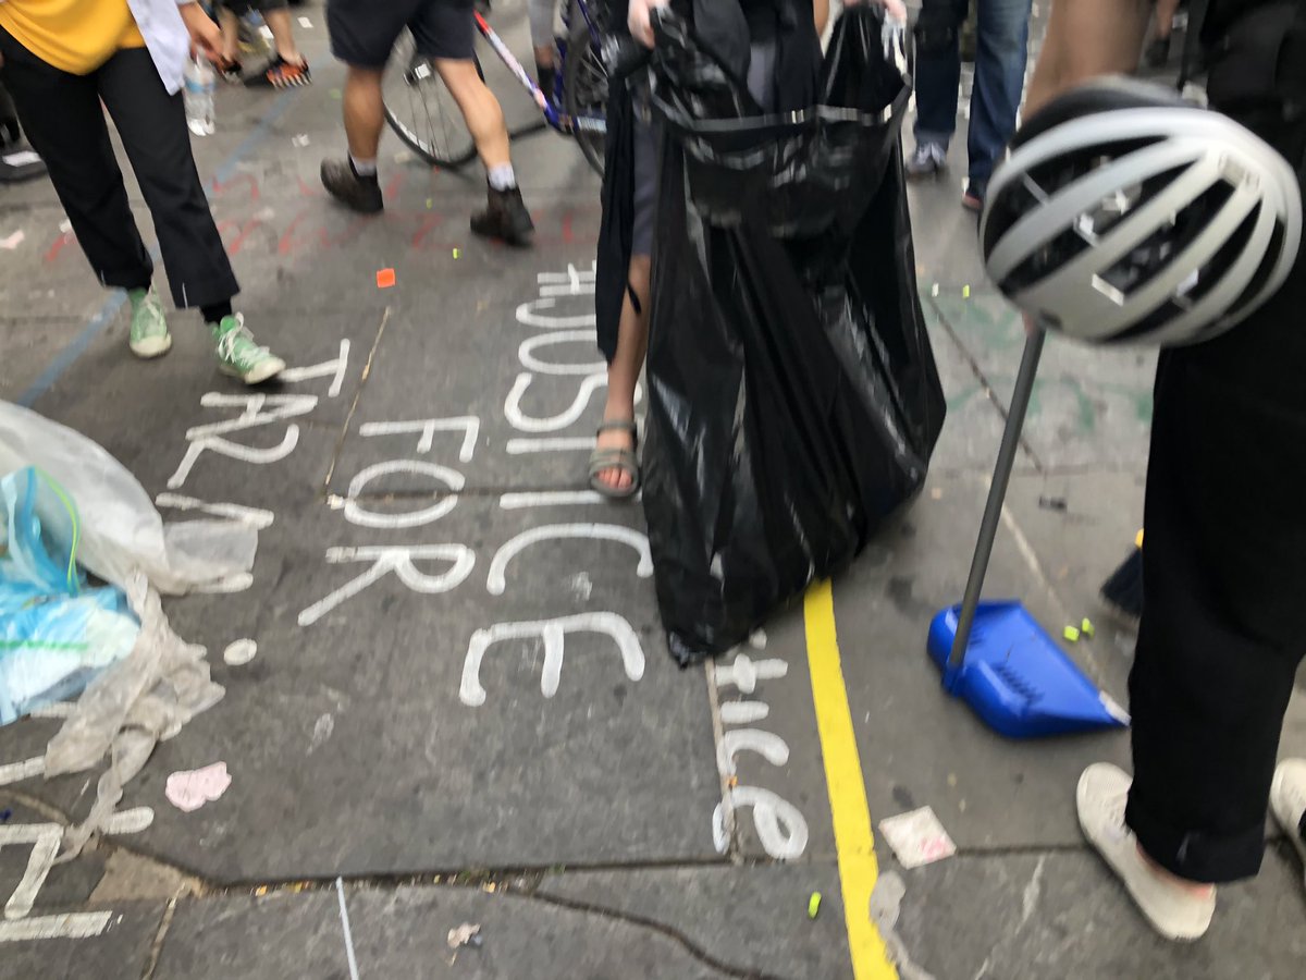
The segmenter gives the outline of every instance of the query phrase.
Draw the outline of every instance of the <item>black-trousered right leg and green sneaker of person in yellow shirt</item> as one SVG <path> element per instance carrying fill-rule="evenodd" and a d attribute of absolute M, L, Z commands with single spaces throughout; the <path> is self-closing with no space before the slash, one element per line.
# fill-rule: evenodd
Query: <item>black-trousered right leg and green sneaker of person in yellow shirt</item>
<path fill-rule="evenodd" d="M 154 220 L 174 302 L 201 310 L 226 374 L 247 384 L 276 376 L 285 362 L 232 314 L 240 286 L 195 167 L 180 93 L 167 93 L 145 48 L 119 51 L 93 77 Z"/>

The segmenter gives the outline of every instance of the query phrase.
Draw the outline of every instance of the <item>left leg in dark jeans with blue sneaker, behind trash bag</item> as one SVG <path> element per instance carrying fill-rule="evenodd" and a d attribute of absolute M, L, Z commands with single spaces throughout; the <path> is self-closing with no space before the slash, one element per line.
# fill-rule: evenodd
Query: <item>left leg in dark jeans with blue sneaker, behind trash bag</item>
<path fill-rule="evenodd" d="M 938 172 L 947 159 L 957 128 L 957 86 L 961 84 L 959 31 L 966 0 L 930 0 L 917 24 L 916 145 L 908 163 L 912 176 Z"/>

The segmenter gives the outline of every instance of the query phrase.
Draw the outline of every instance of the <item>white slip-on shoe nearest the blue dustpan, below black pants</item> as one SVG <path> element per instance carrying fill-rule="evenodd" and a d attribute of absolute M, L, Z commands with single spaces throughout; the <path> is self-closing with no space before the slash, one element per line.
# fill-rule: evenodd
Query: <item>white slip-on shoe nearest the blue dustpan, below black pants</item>
<path fill-rule="evenodd" d="M 1168 939 L 1200 939 L 1216 911 L 1215 889 L 1209 896 L 1198 898 L 1160 877 L 1143 860 L 1138 838 L 1124 825 L 1124 804 L 1132 783 L 1127 772 L 1105 762 L 1084 770 L 1075 793 L 1079 826 L 1102 860 L 1124 882 L 1153 929 Z"/>

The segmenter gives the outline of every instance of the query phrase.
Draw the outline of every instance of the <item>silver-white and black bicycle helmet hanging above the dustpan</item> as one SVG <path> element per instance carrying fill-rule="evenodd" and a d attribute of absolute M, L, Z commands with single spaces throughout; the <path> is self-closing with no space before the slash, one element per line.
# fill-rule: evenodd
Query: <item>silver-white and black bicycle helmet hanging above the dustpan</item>
<path fill-rule="evenodd" d="M 1107 78 L 1034 114 L 989 183 L 998 287 L 1043 327 L 1110 344 L 1194 344 L 1282 285 L 1297 175 L 1264 140 L 1156 85 Z"/>

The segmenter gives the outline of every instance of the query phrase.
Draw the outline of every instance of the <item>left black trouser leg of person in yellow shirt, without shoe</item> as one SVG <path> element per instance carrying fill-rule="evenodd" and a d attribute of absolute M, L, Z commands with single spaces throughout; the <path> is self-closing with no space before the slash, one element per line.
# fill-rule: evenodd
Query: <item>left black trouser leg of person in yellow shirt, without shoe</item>
<path fill-rule="evenodd" d="M 27 141 L 46 161 L 95 277 L 106 286 L 148 289 L 154 263 L 132 217 L 95 78 L 46 64 L 3 29 L 0 55 L 0 80 L 13 97 Z"/>

